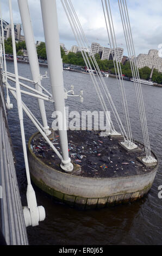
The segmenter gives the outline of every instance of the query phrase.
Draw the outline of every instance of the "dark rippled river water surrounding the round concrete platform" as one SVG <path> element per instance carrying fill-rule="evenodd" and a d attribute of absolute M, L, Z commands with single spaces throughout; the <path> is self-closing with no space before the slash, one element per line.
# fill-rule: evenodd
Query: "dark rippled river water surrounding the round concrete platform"
<path fill-rule="evenodd" d="M 7 68 L 9 72 L 14 72 L 13 62 L 7 62 Z M 18 71 L 20 75 L 32 78 L 29 64 L 18 63 Z M 48 71 L 47 67 L 40 67 L 42 75 L 46 71 Z M 104 79 L 122 118 L 122 106 L 116 79 L 111 77 Z M 77 97 L 70 97 L 66 100 L 66 106 L 69 107 L 70 111 L 102 110 L 89 75 L 64 71 L 64 83 L 66 89 L 70 89 L 71 84 L 73 84 L 76 94 L 79 93 L 80 89 L 84 90 L 83 103 L 80 103 Z M 143 142 L 134 85 L 128 81 L 124 83 L 133 138 Z M 43 79 L 42 84 L 51 92 L 49 78 Z M 53 202 L 51 198 L 34 186 L 38 205 L 43 205 L 46 209 L 46 219 L 40 222 L 38 227 L 27 228 L 30 245 L 162 245 L 162 199 L 158 198 L 158 187 L 162 185 L 162 88 L 142 85 L 142 92 L 144 94 L 151 149 L 157 154 L 160 163 L 151 191 L 145 198 L 131 204 L 101 210 L 81 211 Z M 41 121 L 37 100 L 27 95 L 23 95 L 22 99 Z M 17 103 L 12 96 L 11 103 L 14 103 L 14 108 L 8 113 L 9 129 L 17 159 L 16 172 L 22 203 L 27 205 L 27 181 Z M 53 104 L 46 102 L 45 105 L 48 125 L 51 126 Z M 112 119 L 115 124 L 113 115 Z M 28 142 L 29 137 L 36 132 L 36 129 L 26 114 L 24 114 L 24 127 L 26 142 Z M 118 129 L 116 124 L 115 128 Z"/>

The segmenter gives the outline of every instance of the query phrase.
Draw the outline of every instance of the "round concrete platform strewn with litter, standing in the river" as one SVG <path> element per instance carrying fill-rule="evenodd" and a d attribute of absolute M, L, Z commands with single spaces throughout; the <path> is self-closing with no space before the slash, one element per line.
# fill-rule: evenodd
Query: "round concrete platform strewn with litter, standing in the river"
<path fill-rule="evenodd" d="M 59 148 L 59 135 L 51 138 Z M 141 164 L 144 145 L 128 152 L 118 140 L 99 137 L 95 131 L 68 131 L 68 146 L 74 170 L 61 170 L 60 160 L 39 132 L 29 139 L 28 159 L 31 178 L 36 186 L 56 200 L 82 209 L 132 202 L 151 188 L 158 169 Z M 156 158 L 152 152 L 152 156 Z"/>

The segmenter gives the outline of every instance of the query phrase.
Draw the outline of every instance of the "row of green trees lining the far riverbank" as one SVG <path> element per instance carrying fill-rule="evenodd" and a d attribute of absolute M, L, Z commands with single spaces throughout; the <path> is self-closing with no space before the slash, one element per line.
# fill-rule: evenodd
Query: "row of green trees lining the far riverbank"
<path fill-rule="evenodd" d="M 23 56 L 22 49 L 26 49 L 25 41 L 18 42 L 16 44 L 17 55 Z M 60 49 L 61 49 L 61 58 L 63 59 L 63 63 L 85 66 L 85 62 L 81 52 L 77 52 L 77 53 L 69 52 L 68 54 L 65 54 L 65 51 L 61 46 L 60 46 Z M 41 42 L 41 44 L 36 47 L 36 50 L 37 50 L 38 57 L 40 59 L 39 61 L 40 65 L 47 65 L 47 62 L 46 62 L 47 54 L 46 54 L 45 42 Z M 5 40 L 5 52 L 13 54 L 11 38 L 8 38 L 7 40 Z M 107 59 L 101 60 L 98 53 L 95 54 L 95 58 L 100 70 L 108 71 L 109 74 L 115 75 L 113 60 L 107 60 Z M 27 62 L 27 61 L 24 60 L 21 62 Z M 91 63 L 91 60 L 90 60 L 90 63 Z M 93 65 L 92 65 L 92 68 L 94 68 Z M 121 70 L 124 76 L 132 78 L 132 71 L 130 68 L 129 60 L 126 63 L 124 63 L 124 65 L 121 63 Z M 147 66 L 145 66 L 142 69 L 139 69 L 139 75 L 141 79 L 149 80 L 150 74 L 151 74 L 151 69 L 149 69 Z M 158 70 L 156 69 L 154 69 L 153 71 L 152 81 L 156 84 L 162 84 L 162 74 L 158 72 Z"/>

